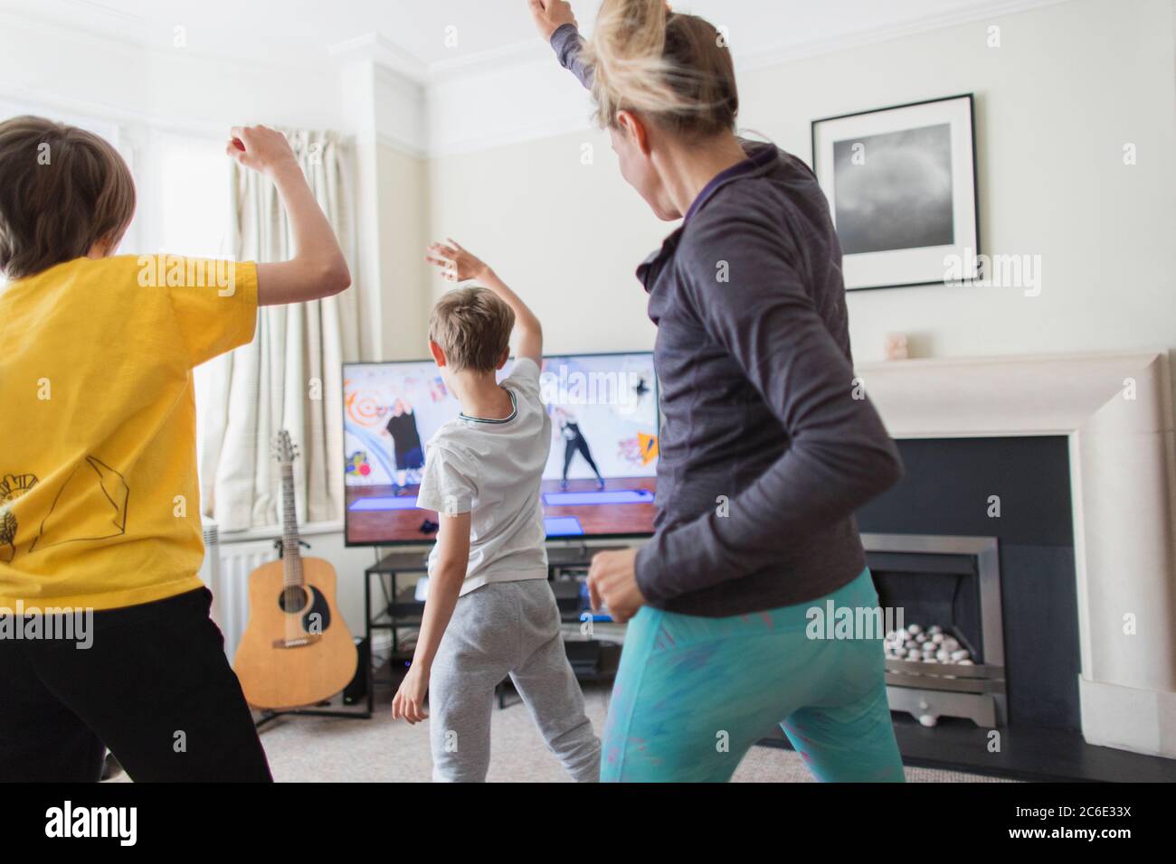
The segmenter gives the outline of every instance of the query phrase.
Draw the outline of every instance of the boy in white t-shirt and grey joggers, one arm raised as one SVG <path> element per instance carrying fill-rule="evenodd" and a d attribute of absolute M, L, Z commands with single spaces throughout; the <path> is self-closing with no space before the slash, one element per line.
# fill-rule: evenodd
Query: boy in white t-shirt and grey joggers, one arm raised
<path fill-rule="evenodd" d="M 459 243 L 427 260 L 450 281 L 489 288 L 446 294 L 429 321 L 429 350 L 462 413 L 429 440 L 417 504 L 441 522 L 413 664 L 392 716 L 430 715 L 433 778 L 485 781 L 494 689 L 508 675 L 548 748 L 572 778 L 600 778 L 600 739 L 560 637 L 547 583 L 540 482 L 552 421 L 540 398 L 543 333 L 530 309 Z M 515 364 L 500 384 L 495 373 Z M 429 695 L 429 715 L 423 711 Z"/>

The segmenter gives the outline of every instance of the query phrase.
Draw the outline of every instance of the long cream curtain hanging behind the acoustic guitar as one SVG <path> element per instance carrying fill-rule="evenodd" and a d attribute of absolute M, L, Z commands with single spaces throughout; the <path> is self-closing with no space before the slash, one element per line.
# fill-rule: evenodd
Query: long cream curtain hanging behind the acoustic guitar
<path fill-rule="evenodd" d="M 326 300 L 260 309 L 253 342 L 202 370 L 201 501 L 221 531 L 279 524 L 272 444 L 280 429 L 301 451 L 294 466 L 300 522 L 343 513 L 341 364 L 359 359 L 352 153 L 330 132 L 286 135 L 347 255 L 353 284 Z M 288 259 L 293 237 L 274 185 L 234 165 L 232 195 L 232 256 Z"/>

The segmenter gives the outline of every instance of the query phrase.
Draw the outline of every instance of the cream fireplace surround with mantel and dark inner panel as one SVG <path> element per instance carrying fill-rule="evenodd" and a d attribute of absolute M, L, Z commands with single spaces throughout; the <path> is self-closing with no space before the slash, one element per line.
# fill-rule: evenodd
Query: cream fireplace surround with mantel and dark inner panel
<path fill-rule="evenodd" d="M 875 502 L 858 514 L 866 533 L 998 537 L 1009 725 L 1076 728 L 1089 744 L 1176 757 L 1176 424 L 1168 357 L 909 360 L 857 374 L 904 448 L 908 476 L 908 450 L 958 440 L 976 453 L 989 442 L 997 451 L 1040 446 L 1064 457 L 1050 456 L 1042 468 L 1051 478 L 1013 509 L 1007 494 L 974 475 L 950 513 L 933 495 L 906 507 Z M 929 476 L 931 490 L 948 485 L 936 481 L 956 480 L 955 469 L 914 468 Z M 1023 474 L 1003 470 L 1010 483 Z M 1010 516 L 1033 515 L 1037 501 L 1062 491 L 1064 508 L 1051 501 L 1033 534 L 1003 536 L 1020 530 Z M 988 518 L 993 495 L 1001 498 L 1000 518 Z M 918 522 L 908 520 L 913 515 Z M 973 524 L 937 524 L 950 521 Z"/>

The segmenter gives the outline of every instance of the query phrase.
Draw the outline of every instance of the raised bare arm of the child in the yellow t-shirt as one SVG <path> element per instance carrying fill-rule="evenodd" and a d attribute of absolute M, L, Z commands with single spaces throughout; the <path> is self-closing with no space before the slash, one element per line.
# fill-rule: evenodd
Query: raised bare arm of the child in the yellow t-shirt
<path fill-rule="evenodd" d="M 346 290 L 352 283 L 347 259 L 286 136 L 265 126 L 238 126 L 232 135 L 225 152 L 274 181 L 294 234 L 294 257 L 258 264 L 258 306 L 302 303 Z"/>

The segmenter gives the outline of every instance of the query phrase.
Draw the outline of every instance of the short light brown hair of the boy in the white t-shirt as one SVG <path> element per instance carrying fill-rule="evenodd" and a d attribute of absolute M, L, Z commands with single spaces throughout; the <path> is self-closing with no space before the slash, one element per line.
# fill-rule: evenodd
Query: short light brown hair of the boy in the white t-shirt
<path fill-rule="evenodd" d="M 510 347 L 514 312 L 486 288 L 457 288 L 433 307 L 429 339 L 453 371 L 493 371 Z"/>

